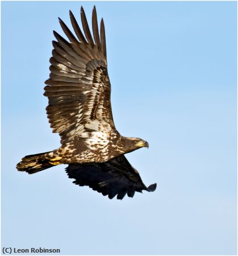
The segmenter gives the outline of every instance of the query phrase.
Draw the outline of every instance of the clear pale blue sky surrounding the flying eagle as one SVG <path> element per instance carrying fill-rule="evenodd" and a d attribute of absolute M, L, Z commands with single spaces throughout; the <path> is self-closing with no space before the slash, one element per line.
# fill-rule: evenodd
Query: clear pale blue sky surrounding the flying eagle
<path fill-rule="evenodd" d="M 17 172 L 60 146 L 45 114 L 52 30 L 83 5 L 106 26 L 119 132 L 153 193 L 109 200 L 57 166 Z M 61 254 L 237 254 L 237 3 L 2 2 L 2 246 Z M 70 25 L 69 25 L 70 27 Z"/>

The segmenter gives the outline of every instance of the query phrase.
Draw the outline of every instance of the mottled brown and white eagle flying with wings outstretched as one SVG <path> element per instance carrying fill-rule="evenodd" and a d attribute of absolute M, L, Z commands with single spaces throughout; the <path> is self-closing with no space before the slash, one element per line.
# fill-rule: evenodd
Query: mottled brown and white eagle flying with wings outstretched
<path fill-rule="evenodd" d="M 27 155 L 16 165 L 18 171 L 36 172 L 68 164 L 66 173 L 73 183 L 89 186 L 112 199 L 127 194 L 155 191 L 156 183 L 147 187 L 139 172 L 124 154 L 149 147 L 140 138 L 124 137 L 116 130 L 111 110 L 111 84 L 107 73 L 105 26 L 98 28 L 95 6 L 90 32 L 81 7 L 83 32 L 69 11 L 75 35 L 59 18 L 68 40 L 53 31 L 51 71 L 45 81 L 48 97 L 47 117 L 53 133 L 59 133 L 61 146 L 53 151 Z M 99 32 L 100 31 L 100 32 Z"/>

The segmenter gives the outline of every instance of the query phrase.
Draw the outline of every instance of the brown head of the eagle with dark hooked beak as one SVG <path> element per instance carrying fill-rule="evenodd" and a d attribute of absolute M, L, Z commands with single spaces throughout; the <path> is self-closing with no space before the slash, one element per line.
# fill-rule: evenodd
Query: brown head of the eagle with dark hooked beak
<path fill-rule="evenodd" d="M 149 147 L 149 143 L 140 138 L 121 137 L 120 144 L 126 153 L 137 150 L 140 147 Z"/>

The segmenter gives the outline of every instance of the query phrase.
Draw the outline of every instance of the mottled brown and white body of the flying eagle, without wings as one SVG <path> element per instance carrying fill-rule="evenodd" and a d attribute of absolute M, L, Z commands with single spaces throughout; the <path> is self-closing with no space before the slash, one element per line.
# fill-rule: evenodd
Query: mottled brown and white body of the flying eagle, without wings
<path fill-rule="evenodd" d="M 61 147 L 40 156 L 53 165 L 71 163 L 107 162 L 116 156 L 136 150 L 135 141 L 139 138 L 122 137 L 118 131 L 112 131 L 107 137 L 103 133 L 91 131 L 77 137 L 77 141 L 68 142 Z M 142 142 L 145 144 L 147 142 Z M 141 144 L 142 147 L 142 144 Z"/>

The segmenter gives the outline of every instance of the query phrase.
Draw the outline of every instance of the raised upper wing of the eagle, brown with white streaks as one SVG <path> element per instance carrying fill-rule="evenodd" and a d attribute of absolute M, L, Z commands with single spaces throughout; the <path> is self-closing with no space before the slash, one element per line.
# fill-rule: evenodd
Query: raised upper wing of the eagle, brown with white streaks
<path fill-rule="evenodd" d="M 93 36 L 81 7 L 84 34 L 73 14 L 70 19 L 77 38 L 64 22 L 60 25 L 69 42 L 54 35 L 51 73 L 45 81 L 44 95 L 49 99 L 47 114 L 53 133 L 67 143 L 85 131 L 115 129 L 111 113 L 111 85 L 107 74 L 106 39 L 103 19 L 100 36 L 95 6 L 92 16 Z"/>

